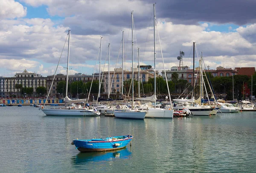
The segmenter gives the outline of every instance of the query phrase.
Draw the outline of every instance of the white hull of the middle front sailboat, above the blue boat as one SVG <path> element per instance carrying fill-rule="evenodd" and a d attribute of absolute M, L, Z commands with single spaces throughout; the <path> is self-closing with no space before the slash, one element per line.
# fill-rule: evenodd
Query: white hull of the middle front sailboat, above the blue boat
<path fill-rule="evenodd" d="M 116 118 L 144 119 L 146 112 L 115 110 L 114 115 Z"/>

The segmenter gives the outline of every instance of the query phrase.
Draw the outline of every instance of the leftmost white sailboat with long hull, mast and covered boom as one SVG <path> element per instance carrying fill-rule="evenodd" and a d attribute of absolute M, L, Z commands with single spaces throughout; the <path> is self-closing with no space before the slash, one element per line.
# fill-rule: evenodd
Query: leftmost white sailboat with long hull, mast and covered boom
<path fill-rule="evenodd" d="M 79 105 L 76 107 L 75 103 L 81 103 L 86 101 L 86 99 L 71 100 L 67 96 L 67 86 L 68 86 L 68 70 L 69 70 L 69 55 L 70 55 L 70 30 L 68 31 L 68 50 L 67 50 L 67 83 L 66 83 L 66 97 L 65 97 L 65 107 L 64 108 L 45 108 L 42 107 L 42 111 L 45 115 L 51 116 L 99 116 L 99 112 L 94 110 L 89 110 L 86 107 L 81 107 Z M 54 78 L 53 78 L 54 80 Z M 48 94 L 49 96 L 49 94 Z M 47 96 L 47 98 L 48 98 Z M 71 103 L 71 106 L 67 106 L 68 103 Z"/>

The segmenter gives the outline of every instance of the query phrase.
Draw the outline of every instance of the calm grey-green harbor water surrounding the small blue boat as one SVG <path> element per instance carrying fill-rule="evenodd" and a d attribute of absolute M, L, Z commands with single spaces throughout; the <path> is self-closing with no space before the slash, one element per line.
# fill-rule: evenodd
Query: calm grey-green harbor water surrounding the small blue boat
<path fill-rule="evenodd" d="M 126 149 L 80 153 L 75 138 L 133 135 Z M 253 173 L 256 112 L 128 120 L 45 116 L 36 107 L 0 107 L 1 173 Z"/>

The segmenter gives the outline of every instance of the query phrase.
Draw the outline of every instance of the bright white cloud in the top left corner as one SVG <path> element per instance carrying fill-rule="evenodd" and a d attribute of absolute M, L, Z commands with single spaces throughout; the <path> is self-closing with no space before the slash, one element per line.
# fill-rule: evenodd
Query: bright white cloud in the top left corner
<path fill-rule="evenodd" d="M 0 0 L 0 20 L 26 16 L 26 7 L 14 0 Z"/>

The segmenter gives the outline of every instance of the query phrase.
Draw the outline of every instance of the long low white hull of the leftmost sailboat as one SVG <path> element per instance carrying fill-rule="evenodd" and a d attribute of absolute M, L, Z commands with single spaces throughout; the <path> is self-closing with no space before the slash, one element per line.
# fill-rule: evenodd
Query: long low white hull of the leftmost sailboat
<path fill-rule="evenodd" d="M 41 109 L 49 116 L 99 116 L 99 113 L 83 109 Z"/>

